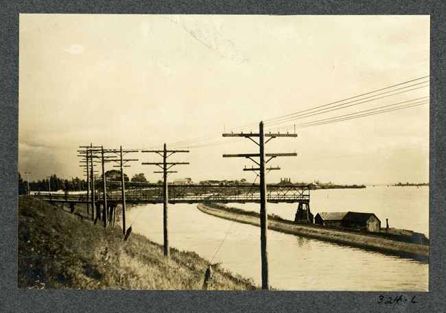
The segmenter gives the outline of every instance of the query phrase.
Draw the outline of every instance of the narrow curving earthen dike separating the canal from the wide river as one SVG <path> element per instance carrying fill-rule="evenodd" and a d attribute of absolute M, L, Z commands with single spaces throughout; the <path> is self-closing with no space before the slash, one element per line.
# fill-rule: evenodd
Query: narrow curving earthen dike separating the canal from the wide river
<path fill-rule="evenodd" d="M 198 210 L 209 215 L 224 218 L 230 221 L 237 221 L 253 226 L 260 226 L 258 216 L 253 214 L 239 214 L 229 212 L 222 208 L 211 208 L 202 203 L 197 205 Z M 387 238 L 379 238 L 377 236 L 366 236 L 363 234 L 354 234 L 347 231 L 337 231 L 334 229 L 312 227 L 304 224 L 284 223 L 274 220 L 268 216 L 268 229 L 280 231 L 285 234 L 305 236 L 318 240 L 336 242 L 341 245 L 349 245 L 351 247 L 360 247 L 363 249 L 371 249 L 386 254 L 399 255 L 403 258 L 412 258 L 421 262 L 429 262 L 429 246 L 417 245 L 410 242 L 402 242 Z"/>

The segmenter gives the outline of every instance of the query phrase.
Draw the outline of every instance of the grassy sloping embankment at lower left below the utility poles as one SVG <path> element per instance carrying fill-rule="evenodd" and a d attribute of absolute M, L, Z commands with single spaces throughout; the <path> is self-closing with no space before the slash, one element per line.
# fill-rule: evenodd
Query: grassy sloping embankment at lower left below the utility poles
<path fill-rule="evenodd" d="M 80 207 L 80 206 L 79 206 Z M 78 207 L 76 207 L 78 208 Z M 122 229 L 104 229 L 69 209 L 19 197 L 19 288 L 200 290 L 207 260 Z M 253 282 L 213 264 L 208 290 L 253 290 Z"/>

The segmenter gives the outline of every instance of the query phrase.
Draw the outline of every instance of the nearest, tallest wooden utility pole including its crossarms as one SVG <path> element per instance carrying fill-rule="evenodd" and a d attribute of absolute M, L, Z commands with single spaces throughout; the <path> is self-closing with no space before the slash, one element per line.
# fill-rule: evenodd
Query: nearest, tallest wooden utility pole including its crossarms
<path fill-rule="evenodd" d="M 267 232 L 268 232 L 268 213 L 266 211 L 266 180 L 265 171 L 279 170 L 279 167 L 265 168 L 266 163 L 270 162 L 273 158 L 279 156 L 296 156 L 297 153 L 265 153 L 265 145 L 272 138 L 277 137 L 297 137 L 296 134 L 264 134 L 263 122 L 259 124 L 259 134 L 223 134 L 223 137 L 244 137 L 255 142 L 259 146 L 259 153 L 247 153 L 247 154 L 224 154 L 223 158 L 247 158 L 255 162 L 258 168 L 244 168 L 244 171 L 259 171 L 260 176 L 260 247 L 261 247 L 261 288 L 269 289 L 268 282 L 268 249 L 267 249 Z M 253 140 L 253 137 L 258 137 L 259 142 Z M 265 141 L 265 137 L 270 137 Z M 259 158 L 259 162 L 253 158 Z M 265 160 L 265 157 L 269 157 Z"/>

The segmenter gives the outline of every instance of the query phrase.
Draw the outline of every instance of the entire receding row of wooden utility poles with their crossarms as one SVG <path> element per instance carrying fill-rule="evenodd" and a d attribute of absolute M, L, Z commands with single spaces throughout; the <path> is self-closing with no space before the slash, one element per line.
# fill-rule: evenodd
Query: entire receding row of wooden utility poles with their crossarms
<path fill-rule="evenodd" d="M 284 156 L 296 156 L 297 153 L 266 153 L 265 145 L 273 138 L 281 138 L 281 137 L 297 137 L 296 134 L 264 134 L 263 132 L 263 122 L 259 124 L 259 133 L 257 134 L 223 134 L 224 137 L 244 137 L 248 138 L 251 141 L 255 142 L 256 145 L 259 146 L 259 153 L 243 153 L 243 154 L 224 154 L 223 158 L 248 158 L 255 162 L 258 167 L 244 168 L 244 171 L 254 171 L 258 172 L 258 176 L 260 177 L 260 242 L 261 242 L 261 278 L 262 278 L 262 289 L 269 289 L 269 281 L 268 281 L 268 249 L 267 249 L 267 233 L 268 233 L 268 214 L 266 210 L 266 174 L 272 170 L 279 170 L 279 167 L 266 168 L 266 164 L 270 162 L 273 158 L 284 157 Z M 253 138 L 259 138 L 258 142 Z M 268 140 L 265 141 L 265 138 Z M 119 150 L 116 149 L 104 149 L 104 147 L 99 146 L 80 146 L 81 149 L 78 152 L 81 153 L 80 156 L 84 157 L 85 164 L 82 166 L 86 167 L 86 177 L 87 177 L 87 185 L 89 188 L 87 189 L 87 197 L 90 195 L 91 188 L 91 217 L 95 218 L 94 213 L 94 205 L 97 204 L 95 202 L 95 173 L 94 166 L 95 162 L 99 162 L 102 164 L 102 194 L 103 194 L 103 216 L 102 219 L 104 221 L 104 227 L 107 227 L 107 223 L 109 221 L 109 212 L 107 210 L 107 192 L 106 192 L 106 177 L 104 164 L 106 162 L 117 162 L 117 167 L 120 168 L 121 172 L 121 196 L 122 196 L 122 218 L 123 218 L 123 232 L 126 234 L 126 192 L 125 192 L 125 184 L 124 184 L 124 167 L 127 167 L 127 162 L 137 161 L 137 159 L 124 159 L 123 156 L 126 153 L 137 152 L 138 150 L 123 150 L 122 147 Z M 170 173 L 177 173 L 176 171 L 169 171 L 172 166 L 180 165 L 180 164 L 189 164 L 189 162 L 167 162 L 167 158 L 174 153 L 186 153 L 188 150 L 168 150 L 166 144 L 164 144 L 164 149 L 162 150 L 151 150 L 151 151 L 141 151 L 147 153 L 157 153 L 161 155 L 163 158 L 162 162 L 143 162 L 144 165 L 156 165 L 161 168 L 161 171 L 154 171 L 154 173 L 163 173 L 163 231 L 164 231 L 164 255 L 169 257 L 169 237 L 167 231 L 167 205 L 169 199 L 169 192 L 167 189 L 167 176 Z M 108 155 L 113 153 L 113 155 Z M 119 158 L 117 158 L 117 155 Z M 259 158 L 257 160 L 257 158 Z M 268 159 L 266 159 L 268 158 Z M 89 210 L 89 205 L 87 205 L 87 210 Z M 100 210 L 97 210 L 97 217 L 100 214 Z M 99 217 L 100 218 L 100 217 Z"/>

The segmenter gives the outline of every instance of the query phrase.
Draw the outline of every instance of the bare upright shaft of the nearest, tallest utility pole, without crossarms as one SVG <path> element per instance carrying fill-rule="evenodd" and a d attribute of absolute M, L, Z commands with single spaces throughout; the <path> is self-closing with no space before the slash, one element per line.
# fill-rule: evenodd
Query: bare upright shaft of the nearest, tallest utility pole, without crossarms
<path fill-rule="evenodd" d="M 268 290 L 268 249 L 266 246 L 266 238 L 268 232 L 268 214 L 266 212 L 265 137 L 263 136 L 263 122 L 260 122 L 259 125 L 259 135 L 261 288 Z"/>

